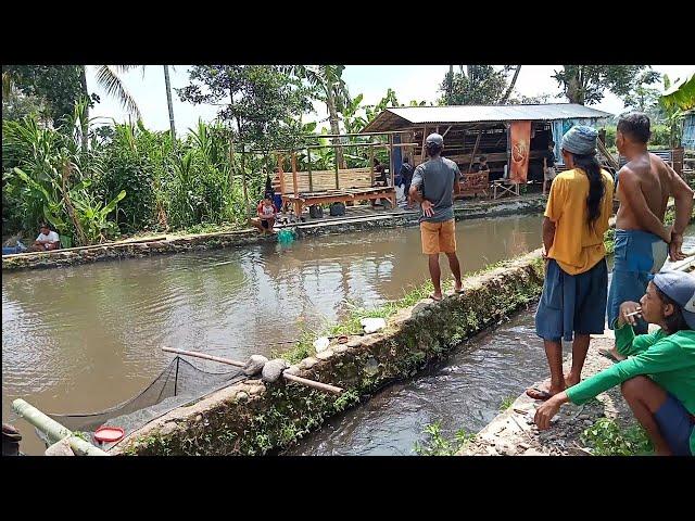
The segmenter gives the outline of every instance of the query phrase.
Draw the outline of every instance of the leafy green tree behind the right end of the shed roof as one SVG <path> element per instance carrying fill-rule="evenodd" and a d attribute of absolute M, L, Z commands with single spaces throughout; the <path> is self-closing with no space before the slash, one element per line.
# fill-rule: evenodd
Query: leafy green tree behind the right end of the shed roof
<path fill-rule="evenodd" d="M 640 73 L 648 68 L 648 65 L 563 65 L 553 78 L 570 103 L 592 105 L 603 100 L 606 90 L 624 99 L 642 78 Z"/>

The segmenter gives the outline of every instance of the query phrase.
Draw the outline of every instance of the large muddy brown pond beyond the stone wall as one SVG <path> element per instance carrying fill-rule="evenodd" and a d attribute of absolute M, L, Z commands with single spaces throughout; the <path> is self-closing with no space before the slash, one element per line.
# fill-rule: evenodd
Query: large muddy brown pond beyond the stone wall
<path fill-rule="evenodd" d="M 457 223 L 462 269 L 531 251 L 540 231 L 538 215 Z M 101 410 L 159 374 L 173 357 L 164 345 L 267 355 L 351 305 L 378 306 L 427 278 L 418 228 L 3 272 L 3 421 L 25 435 L 23 450 L 42 454 L 14 420 L 14 398 L 50 412 Z"/>

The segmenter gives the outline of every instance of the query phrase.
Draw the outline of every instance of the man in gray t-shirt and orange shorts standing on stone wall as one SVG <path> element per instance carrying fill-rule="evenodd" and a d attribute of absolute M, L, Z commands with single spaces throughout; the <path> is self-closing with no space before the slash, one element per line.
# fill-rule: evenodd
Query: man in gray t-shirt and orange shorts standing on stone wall
<path fill-rule="evenodd" d="M 420 203 L 420 237 L 422 253 L 429 256 L 430 277 L 434 292 L 430 298 L 442 300 L 439 254 L 445 253 L 455 278 L 454 290 L 460 292 L 460 267 L 456 257 L 456 227 L 454 225 L 453 192 L 459 192 L 460 171 L 451 160 L 442 157 L 444 139 L 439 134 L 430 134 L 426 141 L 427 163 L 418 165 L 413 175 L 409 195 Z"/>

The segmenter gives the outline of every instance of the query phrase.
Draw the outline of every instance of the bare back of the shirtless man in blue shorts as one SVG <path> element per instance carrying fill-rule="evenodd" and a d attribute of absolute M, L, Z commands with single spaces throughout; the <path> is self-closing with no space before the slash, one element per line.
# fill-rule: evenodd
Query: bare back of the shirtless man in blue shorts
<path fill-rule="evenodd" d="M 654 226 L 645 223 L 643 213 L 648 208 L 664 223 L 667 203 L 672 194 L 673 174 L 661 157 L 652 153 L 635 157 L 626 164 L 618 174 L 617 194 L 620 207 L 616 216 L 616 228 L 654 233 Z"/>

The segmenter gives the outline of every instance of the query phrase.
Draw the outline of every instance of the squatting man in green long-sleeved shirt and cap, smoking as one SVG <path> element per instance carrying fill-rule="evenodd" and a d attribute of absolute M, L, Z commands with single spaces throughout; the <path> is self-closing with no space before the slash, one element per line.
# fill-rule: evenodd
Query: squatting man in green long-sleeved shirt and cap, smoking
<path fill-rule="evenodd" d="M 634 335 L 635 316 L 660 329 Z M 567 402 L 581 405 L 620 385 L 657 455 L 695 455 L 695 277 L 660 271 L 636 302 L 623 302 L 615 323 L 616 345 L 627 359 L 554 395 L 535 411 L 539 430 Z"/>

